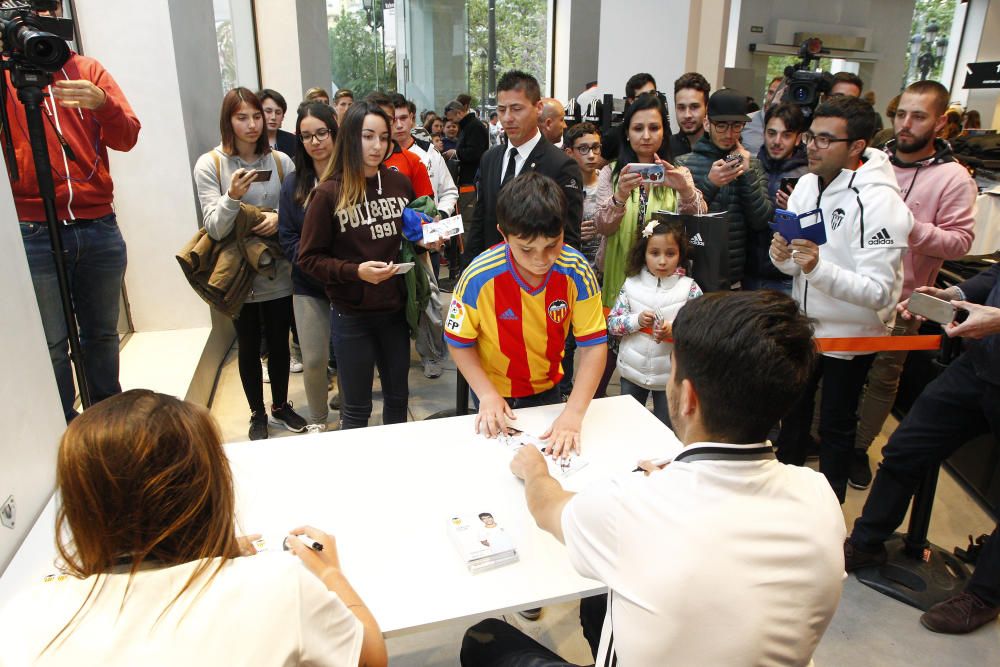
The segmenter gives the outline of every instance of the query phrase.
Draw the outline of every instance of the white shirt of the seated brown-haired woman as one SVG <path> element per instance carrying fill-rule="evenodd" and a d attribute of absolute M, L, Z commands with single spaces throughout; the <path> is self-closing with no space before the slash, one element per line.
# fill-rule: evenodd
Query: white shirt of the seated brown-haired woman
<path fill-rule="evenodd" d="M 0 665 L 356 665 L 364 628 L 294 556 L 229 560 L 160 614 L 202 561 L 94 578 L 40 581 L 0 609 Z M 209 573 L 213 571 L 212 564 Z M 123 604 L 124 599 L 124 604 Z M 159 620 L 157 620 L 159 618 Z"/>

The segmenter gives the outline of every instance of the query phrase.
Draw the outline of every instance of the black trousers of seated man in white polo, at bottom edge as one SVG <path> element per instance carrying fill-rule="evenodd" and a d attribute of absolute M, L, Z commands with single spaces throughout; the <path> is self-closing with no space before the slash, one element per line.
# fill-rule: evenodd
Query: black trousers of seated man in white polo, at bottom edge
<path fill-rule="evenodd" d="M 576 667 L 513 625 L 487 618 L 465 631 L 463 667 Z"/>

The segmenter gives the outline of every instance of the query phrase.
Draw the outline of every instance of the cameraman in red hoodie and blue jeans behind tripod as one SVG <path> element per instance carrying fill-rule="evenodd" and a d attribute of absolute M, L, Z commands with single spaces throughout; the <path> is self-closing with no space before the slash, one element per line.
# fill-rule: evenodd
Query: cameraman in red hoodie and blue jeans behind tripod
<path fill-rule="evenodd" d="M 39 15 L 61 16 L 55 12 Z M 5 47 L 0 38 L 0 50 Z M 108 149 L 128 151 L 139 137 L 139 120 L 111 75 L 93 58 L 70 52 L 44 90 L 43 113 L 55 180 L 56 216 L 65 246 L 66 272 L 80 330 L 87 383 L 96 403 L 121 392 L 118 381 L 118 311 L 125 276 L 125 240 L 113 210 L 114 183 Z M 24 106 L 4 75 L 7 117 L 20 179 L 11 184 L 28 257 L 45 341 L 68 422 L 75 389 L 48 224 L 35 178 Z"/>

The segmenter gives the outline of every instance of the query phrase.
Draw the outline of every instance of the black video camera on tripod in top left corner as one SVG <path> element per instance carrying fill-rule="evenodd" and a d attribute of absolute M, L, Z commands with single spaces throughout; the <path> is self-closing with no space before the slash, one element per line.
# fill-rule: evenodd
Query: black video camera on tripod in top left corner
<path fill-rule="evenodd" d="M 58 4 L 54 0 L 0 1 L 0 37 L 3 38 L 0 56 L 5 58 L 6 69 L 52 73 L 69 60 L 66 42 L 73 39 L 73 22 L 38 14 L 55 10 Z"/>

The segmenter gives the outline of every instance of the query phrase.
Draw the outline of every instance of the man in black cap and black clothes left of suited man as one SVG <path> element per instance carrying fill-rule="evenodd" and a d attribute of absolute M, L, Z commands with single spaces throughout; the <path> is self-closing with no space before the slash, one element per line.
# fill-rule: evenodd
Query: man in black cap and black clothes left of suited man
<path fill-rule="evenodd" d="M 490 147 L 490 133 L 476 115 L 458 100 L 445 106 L 444 115 L 447 120 L 458 123 L 458 143 L 452 150 L 445 151 L 444 157 L 446 160 L 458 160 L 458 212 L 468 225 L 476 208 L 476 173 L 483 153 Z M 458 243 L 452 239 L 448 246 L 448 279 L 442 281 L 444 289 L 450 289 L 458 281 L 460 270 Z"/>

